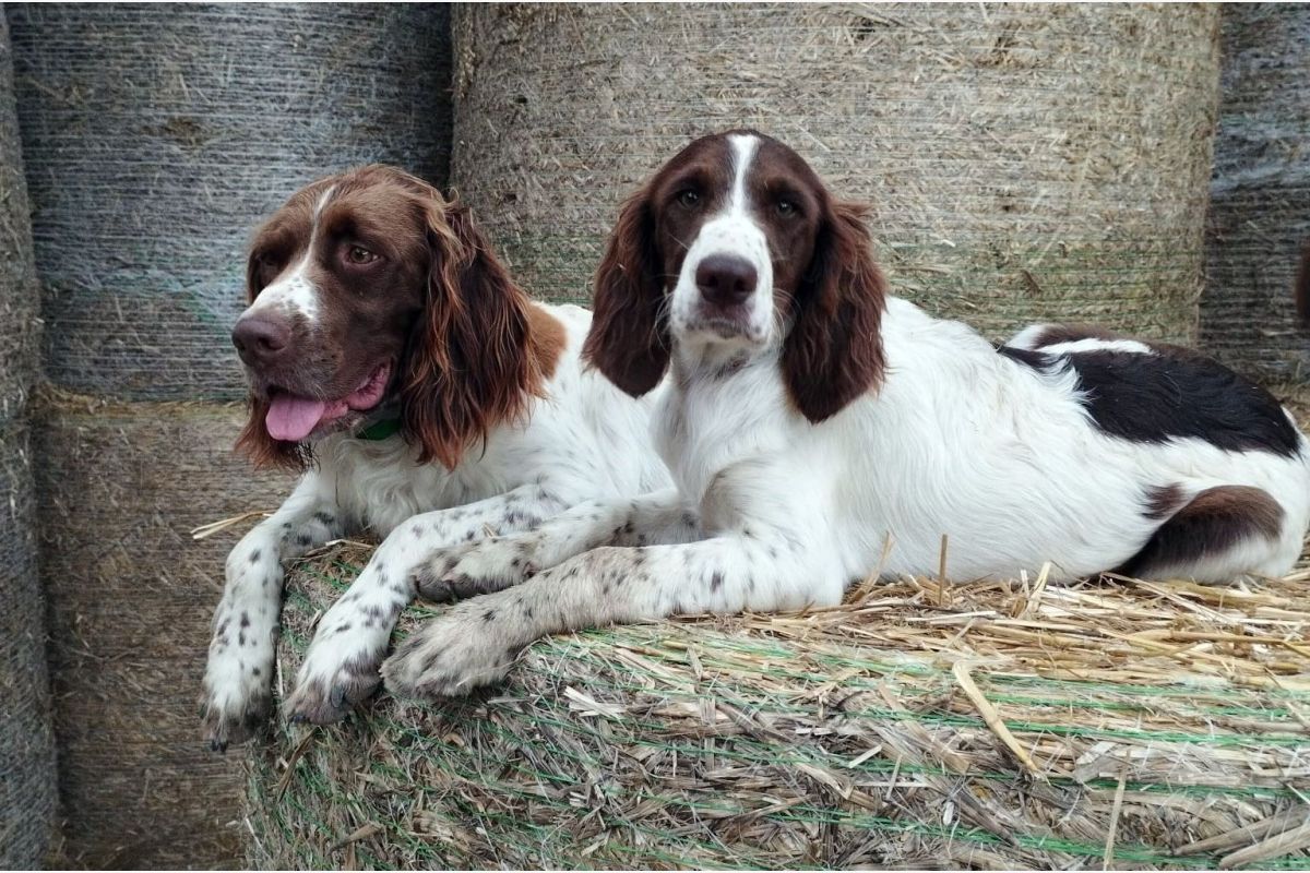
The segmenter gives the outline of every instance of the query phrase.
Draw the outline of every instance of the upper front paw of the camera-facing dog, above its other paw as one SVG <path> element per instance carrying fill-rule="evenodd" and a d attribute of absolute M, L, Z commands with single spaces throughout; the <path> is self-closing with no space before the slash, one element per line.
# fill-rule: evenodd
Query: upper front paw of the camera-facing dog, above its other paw
<path fill-rule="evenodd" d="M 455 602 L 519 585 L 537 572 L 531 541 L 496 537 L 443 548 L 414 572 L 414 584 L 430 601 Z"/>

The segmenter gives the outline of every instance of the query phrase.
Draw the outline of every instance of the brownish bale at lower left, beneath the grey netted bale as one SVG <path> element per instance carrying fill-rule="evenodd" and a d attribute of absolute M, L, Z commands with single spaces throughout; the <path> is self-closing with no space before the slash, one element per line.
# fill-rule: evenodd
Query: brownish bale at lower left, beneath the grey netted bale
<path fill-rule="evenodd" d="M 210 616 L 234 535 L 196 525 L 274 509 L 287 476 L 232 453 L 244 410 L 43 390 L 42 577 L 64 864 L 231 866 L 241 768 L 200 742 Z"/>

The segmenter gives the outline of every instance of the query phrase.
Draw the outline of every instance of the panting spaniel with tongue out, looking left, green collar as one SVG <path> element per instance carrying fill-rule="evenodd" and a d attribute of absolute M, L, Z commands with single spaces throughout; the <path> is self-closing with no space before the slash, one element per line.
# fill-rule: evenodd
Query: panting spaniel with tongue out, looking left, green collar
<path fill-rule="evenodd" d="M 216 750 L 267 715 L 283 560 L 389 534 L 286 702 L 331 721 L 379 683 L 434 547 L 668 484 L 651 402 L 582 366 L 591 314 L 531 302 L 468 212 L 411 175 L 371 166 L 299 191 L 255 236 L 249 301 L 232 332 L 252 385 L 240 445 L 307 471 L 228 558 L 204 677 Z"/>

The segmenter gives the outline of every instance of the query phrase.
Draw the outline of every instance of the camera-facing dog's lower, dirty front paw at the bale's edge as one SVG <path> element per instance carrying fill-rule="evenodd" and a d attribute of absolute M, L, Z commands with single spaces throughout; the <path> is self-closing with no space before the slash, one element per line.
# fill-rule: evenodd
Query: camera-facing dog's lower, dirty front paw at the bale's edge
<path fill-rule="evenodd" d="M 415 631 L 383 664 L 386 690 L 431 699 L 503 679 L 523 647 L 496 632 L 496 609 L 470 601 Z"/>

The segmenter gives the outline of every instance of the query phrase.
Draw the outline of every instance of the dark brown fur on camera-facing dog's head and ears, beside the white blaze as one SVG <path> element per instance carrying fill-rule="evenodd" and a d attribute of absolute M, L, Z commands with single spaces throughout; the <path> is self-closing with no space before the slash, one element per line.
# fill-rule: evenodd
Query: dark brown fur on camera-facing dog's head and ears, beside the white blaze
<path fill-rule="evenodd" d="M 583 353 L 629 394 L 659 383 L 672 344 L 662 317 L 665 294 L 681 272 L 688 241 L 727 196 L 727 136 L 735 132 L 760 137 L 747 185 L 769 242 L 774 304 L 791 315 L 782 378 L 796 408 L 821 421 L 882 380 L 886 285 L 863 208 L 834 203 L 800 156 L 756 131 L 696 140 L 624 204 L 596 272 L 595 317 Z M 694 205 L 680 202 L 686 191 L 698 195 Z M 796 205 L 790 215 L 770 208 L 783 196 Z"/>

